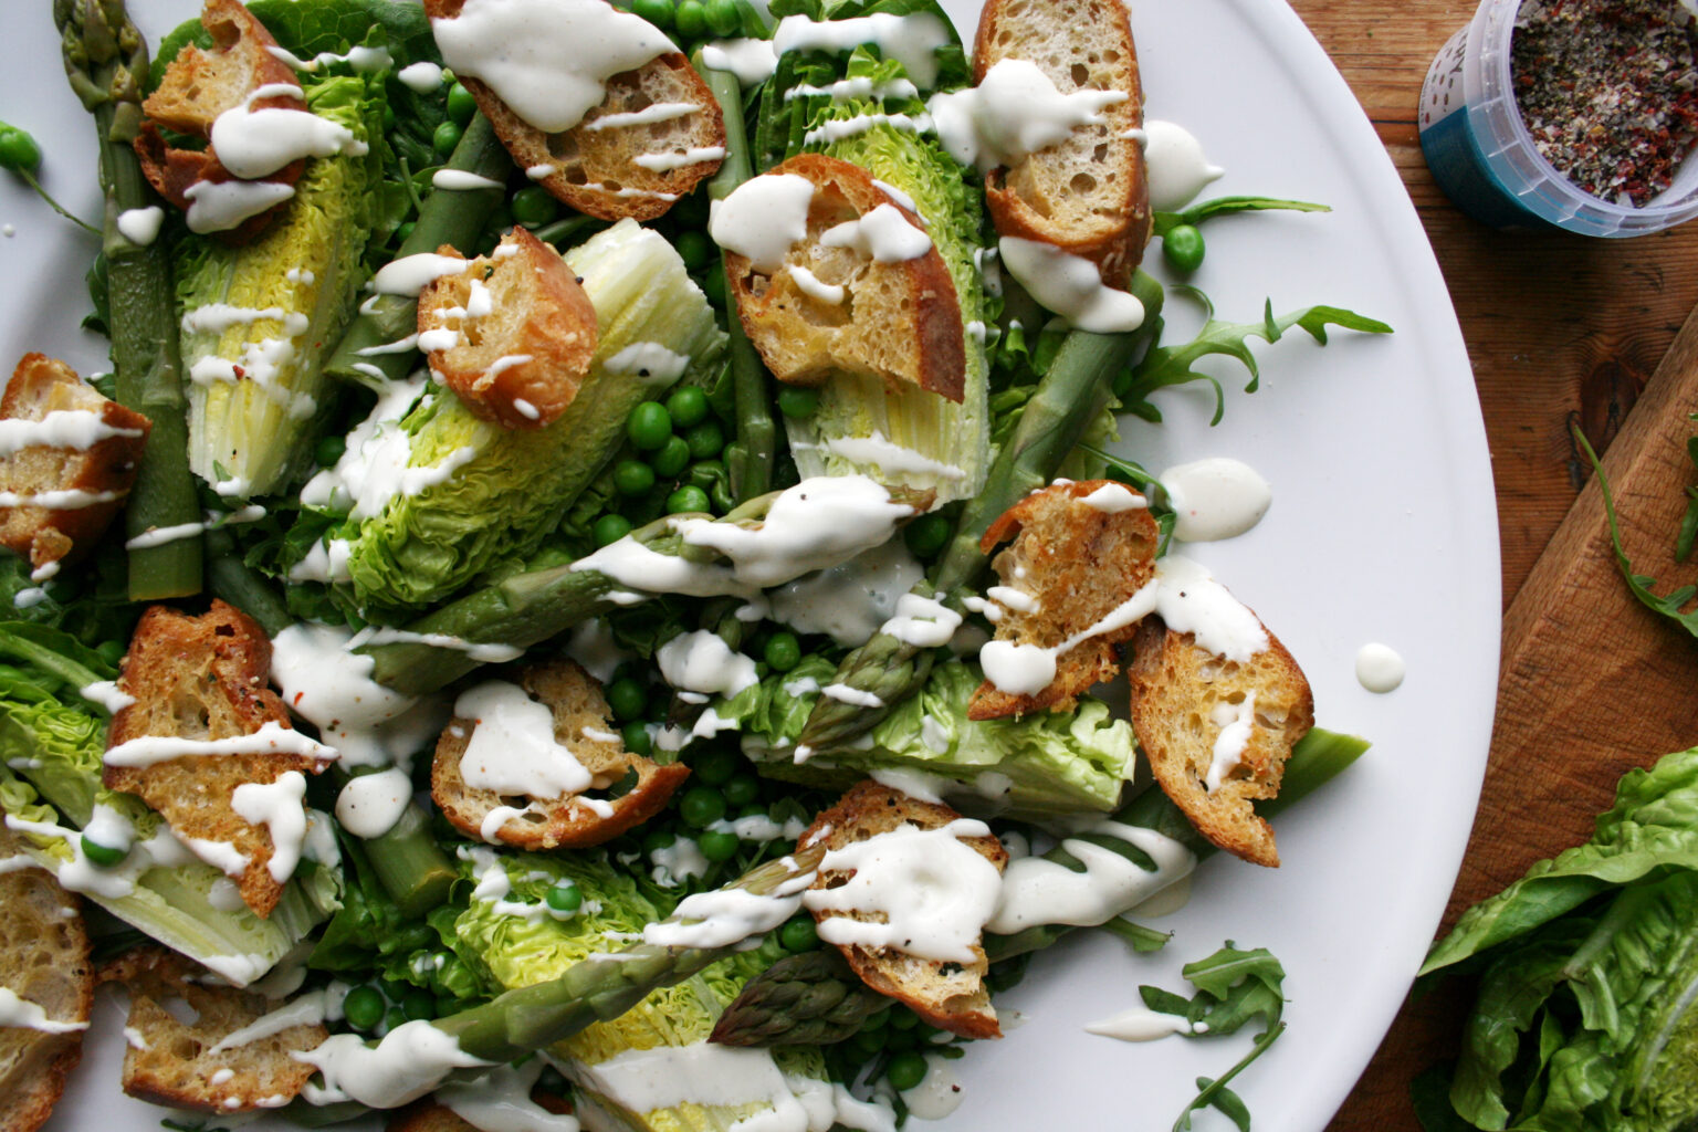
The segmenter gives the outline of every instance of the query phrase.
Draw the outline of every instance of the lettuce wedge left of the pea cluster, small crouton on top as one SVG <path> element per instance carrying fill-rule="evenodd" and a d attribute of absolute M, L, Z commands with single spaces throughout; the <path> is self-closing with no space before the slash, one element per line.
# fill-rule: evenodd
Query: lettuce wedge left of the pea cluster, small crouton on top
<path fill-rule="evenodd" d="M 348 574 L 362 608 L 419 608 L 530 555 L 618 451 L 630 411 L 718 356 L 725 336 L 713 309 L 659 234 L 621 221 L 565 261 L 599 329 L 577 397 L 542 429 L 479 421 L 445 390 L 421 401 L 401 424 L 406 467 L 435 468 L 440 482 L 392 496 L 360 523 Z"/>

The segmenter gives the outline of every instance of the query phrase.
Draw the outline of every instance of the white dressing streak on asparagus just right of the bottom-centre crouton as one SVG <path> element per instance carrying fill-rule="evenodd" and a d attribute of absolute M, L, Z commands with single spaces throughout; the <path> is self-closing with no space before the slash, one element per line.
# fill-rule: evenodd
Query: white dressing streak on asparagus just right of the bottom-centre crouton
<path fill-rule="evenodd" d="M 1114 850 L 1078 837 L 1065 838 L 1061 849 L 1085 866 L 1083 872 L 1043 857 L 1010 860 L 1002 876 L 997 911 L 987 923 L 990 932 L 1014 935 L 1039 923 L 1107 923 L 1197 867 L 1194 852 L 1155 830 L 1104 820 L 1080 833 L 1124 840 L 1148 854 L 1156 867 L 1150 872 Z"/>

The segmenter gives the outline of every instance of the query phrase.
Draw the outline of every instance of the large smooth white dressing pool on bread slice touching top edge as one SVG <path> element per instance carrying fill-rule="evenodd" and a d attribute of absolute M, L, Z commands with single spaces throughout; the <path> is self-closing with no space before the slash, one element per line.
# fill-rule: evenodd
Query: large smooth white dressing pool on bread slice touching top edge
<path fill-rule="evenodd" d="M 601 0 L 467 0 L 433 19 L 441 61 L 521 119 L 559 134 L 606 97 L 606 80 L 678 51 L 649 20 Z"/>

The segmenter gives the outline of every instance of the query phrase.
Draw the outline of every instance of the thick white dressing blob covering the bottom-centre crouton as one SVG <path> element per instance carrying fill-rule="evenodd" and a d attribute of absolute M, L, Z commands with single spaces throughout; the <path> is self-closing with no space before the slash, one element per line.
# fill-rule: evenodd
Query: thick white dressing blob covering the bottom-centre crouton
<path fill-rule="evenodd" d="M 852 871 L 837 888 L 801 896 L 815 913 L 883 913 L 885 922 L 827 915 L 820 939 L 837 945 L 895 949 L 937 962 L 973 962 L 985 922 L 997 910 L 1002 876 L 964 837 L 990 827 L 956 818 L 936 830 L 900 825 L 825 854 L 822 872 Z"/>

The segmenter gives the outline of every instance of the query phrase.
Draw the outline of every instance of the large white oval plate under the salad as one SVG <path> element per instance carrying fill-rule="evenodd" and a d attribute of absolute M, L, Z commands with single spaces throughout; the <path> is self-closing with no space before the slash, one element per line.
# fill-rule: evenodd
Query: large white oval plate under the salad
<path fill-rule="evenodd" d="M 149 39 L 192 0 L 132 0 Z M 0 37 L 0 117 L 41 139 L 46 183 L 97 216 L 93 134 L 59 68 L 48 0 L 19 3 Z M 946 0 L 968 41 L 978 5 Z M 1374 740 L 1340 782 L 1279 821 L 1284 866 L 1216 859 L 1190 905 L 1155 920 L 1167 950 L 1136 957 L 1112 939 L 1041 955 L 1004 1000 L 1007 1037 L 959 1062 L 961 1108 L 937 1127 L 1168 1129 L 1192 1079 L 1219 1076 L 1250 1034 L 1127 1045 L 1083 1025 L 1133 1006 L 1139 983 L 1187 989 L 1184 962 L 1226 940 L 1268 947 L 1285 966 L 1290 1030 L 1233 1088 L 1258 1132 L 1316 1132 L 1367 1064 L 1437 927 L 1479 794 L 1498 674 L 1499 563 L 1491 465 L 1467 353 L 1414 209 L 1350 88 L 1279 0 L 1139 3 L 1133 12 L 1148 112 L 1202 139 L 1228 173 L 1206 195 L 1319 200 L 1326 216 L 1212 221 L 1192 280 L 1219 316 L 1257 321 L 1309 304 L 1350 307 L 1389 338 L 1301 331 L 1255 343 L 1262 392 L 1229 363 L 1226 419 L 1197 387 L 1160 395 L 1161 428 L 1133 423 L 1124 448 L 1151 470 L 1236 457 L 1274 485 L 1250 535 L 1187 553 L 1214 569 L 1285 642 L 1314 684 L 1324 726 Z M 25 350 L 104 368 L 104 343 L 76 329 L 95 243 L 0 177 L 0 253 L 10 280 L 0 360 Z M 1160 253 L 1151 256 L 1160 261 Z M 1194 322 L 1172 299 L 1170 341 Z M 1372 696 L 1357 648 L 1384 642 L 1408 681 Z M 1014 1015 L 1019 1015 L 1015 1018 Z M 51 1129 L 151 1132 L 160 1110 L 117 1095 L 117 1010 L 102 1006 L 90 1056 Z M 1226 1127 L 1217 1113 L 1200 1129 Z"/>

